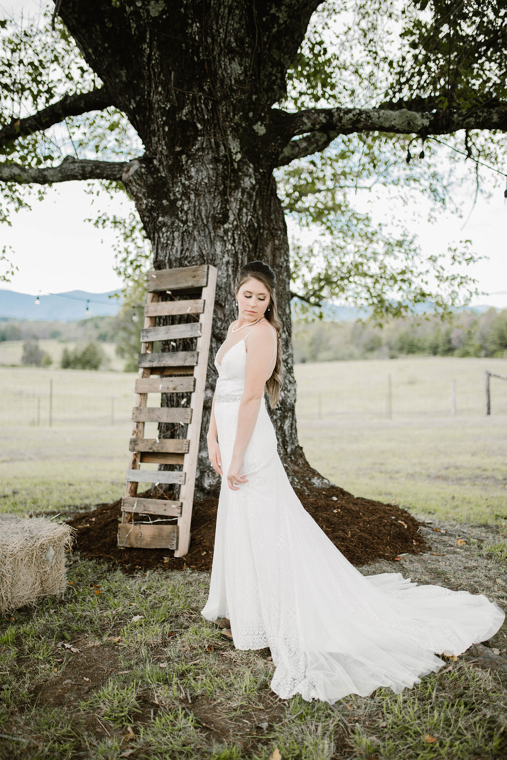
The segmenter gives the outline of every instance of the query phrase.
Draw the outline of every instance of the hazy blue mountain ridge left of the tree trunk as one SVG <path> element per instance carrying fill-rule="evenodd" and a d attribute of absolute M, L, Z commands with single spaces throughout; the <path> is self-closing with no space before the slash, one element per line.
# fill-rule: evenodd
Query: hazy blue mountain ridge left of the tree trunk
<path fill-rule="evenodd" d="M 14 290 L 0 290 L 0 319 L 71 322 L 87 317 L 114 316 L 121 303 L 114 297 L 115 293 L 116 290 L 109 293 L 68 290 L 37 298 Z"/>

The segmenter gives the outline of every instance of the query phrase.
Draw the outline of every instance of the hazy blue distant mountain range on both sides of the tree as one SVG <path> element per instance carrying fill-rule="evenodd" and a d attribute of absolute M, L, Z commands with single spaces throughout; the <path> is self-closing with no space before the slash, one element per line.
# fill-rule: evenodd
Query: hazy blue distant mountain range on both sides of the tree
<path fill-rule="evenodd" d="M 71 322 L 87 317 L 114 316 L 121 306 L 121 301 L 114 297 L 115 294 L 116 290 L 110 290 L 108 293 L 68 290 L 65 293 L 39 296 L 37 299 L 36 296 L 30 296 L 27 293 L 0 290 L 0 319 Z M 420 304 L 415 312 L 421 314 L 424 311 L 431 311 L 432 306 L 430 303 Z M 481 314 L 491 307 L 481 305 L 468 308 Z M 333 303 L 325 304 L 322 311 L 326 321 L 350 321 L 368 316 L 368 309 L 357 306 L 336 306 Z"/>

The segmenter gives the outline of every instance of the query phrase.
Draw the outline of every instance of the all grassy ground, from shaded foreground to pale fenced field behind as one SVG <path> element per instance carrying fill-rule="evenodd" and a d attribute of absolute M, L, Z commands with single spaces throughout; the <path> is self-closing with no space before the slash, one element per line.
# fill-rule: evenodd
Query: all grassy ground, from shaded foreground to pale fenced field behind
<path fill-rule="evenodd" d="M 507 361 L 296 366 L 299 439 L 310 463 L 335 483 L 357 496 L 394 501 L 447 531 L 424 529 L 430 543 L 438 539 L 433 553 L 361 572 L 402 572 L 423 583 L 483 592 L 505 608 L 507 382 L 493 388 L 493 415 L 486 417 L 485 369 L 507 374 Z M 66 515 L 117 499 L 134 378 L 0 368 L 0 509 Z M 208 575 L 123 575 L 76 555 L 68 581 L 62 600 L 48 598 L 0 621 L 2 757 L 507 755 L 505 671 L 478 667 L 474 657 L 449 658 L 439 673 L 400 695 L 378 689 L 333 707 L 299 697 L 281 701 L 269 689 L 269 651 L 236 651 L 199 615 Z M 507 656 L 505 626 L 490 644 Z"/>

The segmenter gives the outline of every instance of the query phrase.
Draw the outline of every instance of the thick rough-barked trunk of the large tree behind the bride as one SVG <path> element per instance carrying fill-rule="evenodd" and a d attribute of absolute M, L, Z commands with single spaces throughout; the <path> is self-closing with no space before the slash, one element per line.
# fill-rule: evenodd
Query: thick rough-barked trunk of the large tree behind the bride
<path fill-rule="evenodd" d="M 294 485 L 324 485 L 297 442 L 289 246 L 273 178 L 287 137 L 271 109 L 284 93 L 284 55 L 295 54 L 318 2 L 294 2 L 293 15 L 284 2 L 269 14 L 265 3 L 241 0 L 99 5 L 98 20 L 83 0 L 65 0 L 61 13 L 144 142 L 144 159 L 131 163 L 124 182 L 153 245 L 154 268 L 218 268 L 197 494 L 217 490 L 205 445 L 217 377 L 213 359 L 237 318 L 236 273 L 257 258 L 277 274 L 284 323 L 287 374 L 272 413 L 280 456 Z M 287 50 L 277 49 L 270 62 L 263 46 L 282 29 L 277 43 Z"/>

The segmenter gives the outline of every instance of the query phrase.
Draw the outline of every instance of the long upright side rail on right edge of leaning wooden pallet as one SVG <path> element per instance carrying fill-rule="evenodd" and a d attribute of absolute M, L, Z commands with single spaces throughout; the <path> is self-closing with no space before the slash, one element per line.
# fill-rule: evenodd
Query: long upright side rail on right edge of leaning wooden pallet
<path fill-rule="evenodd" d="M 198 365 L 195 367 L 195 391 L 192 394 L 192 423 L 187 429 L 187 438 L 189 439 L 189 453 L 185 456 L 183 470 L 186 473 L 185 484 L 182 485 L 179 492 L 179 499 L 182 502 L 182 516 L 178 520 L 179 538 L 178 548 L 174 556 L 182 557 L 189 551 L 190 543 L 190 526 L 192 523 L 192 505 L 194 502 L 195 489 L 195 470 L 199 454 L 199 439 L 201 438 L 201 420 L 202 405 L 204 403 L 204 389 L 206 388 L 206 375 L 208 372 L 208 353 L 211 341 L 211 324 L 213 321 L 213 310 L 215 300 L 215 287 L 217 285 L 217 269 L 211 265 L 208 267 L 208 284 L 202 290 L 204 298 L 204 312 L 201 314 L 202 332 L 201 337 L 197 340 L 197 350 L 199 355 Z"/>

